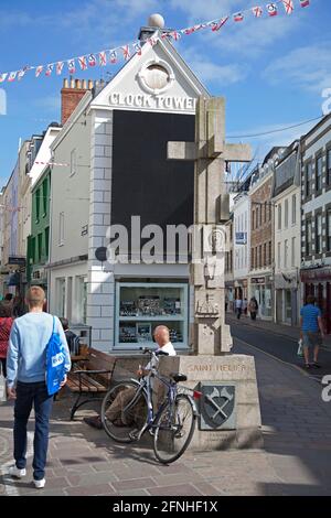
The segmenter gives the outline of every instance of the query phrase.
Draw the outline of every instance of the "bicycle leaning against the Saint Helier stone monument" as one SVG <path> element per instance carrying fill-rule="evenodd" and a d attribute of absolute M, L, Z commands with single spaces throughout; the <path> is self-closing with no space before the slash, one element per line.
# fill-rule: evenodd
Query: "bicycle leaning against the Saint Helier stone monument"
<path fill-rule="evenodd" d="M 102 404 L 102 421 L 106 433 L 121 443 L 139 441 L 149 431 L 153 435 L 156 457 L 163 464 L 170 464 L 184 453 L 192 440 L 197 417 L 194 398 L 197 399 L 201 392 L 186 387 L 183 389 L 192 391 L 194 398 L 190 393 L 179 392 L 178 382 L 188 379 L 184 375 L 174 373 L 169 378 L 159 375 L 154 367 L 157 357 L 168 356 L 168 353 L 154 353 L 148 348 L 142 350 L 150 355 L 151 368 L 140 380 L 122 380 L 106 393 Z M 157 412 L 152 404 L 152 378 L 159 379 L 167 389 L 166 399 Z M 116 398 L 117 408 L 114 403 Z M 120 413 L 120 418 L 114 419 L 111 412 L 117 416 Z"/>

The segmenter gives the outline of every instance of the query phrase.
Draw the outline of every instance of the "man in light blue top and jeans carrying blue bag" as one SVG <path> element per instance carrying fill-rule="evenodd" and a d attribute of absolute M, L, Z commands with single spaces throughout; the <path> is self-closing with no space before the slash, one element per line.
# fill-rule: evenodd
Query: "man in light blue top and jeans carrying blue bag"
<path fill-rule="evenodd" d="M 7 355 L 7 391 L 14 399 L 14 460 L 9 474 L 26 475 L 26 427 L 32 407 L 35 414 L 33 482 L 45 485 L 49 423 L 53 395 L 65 385 L 71 356 L 60 320 L 43 312 L 45 292 L 28 290 L 29 313 L 14 321 Z"/>

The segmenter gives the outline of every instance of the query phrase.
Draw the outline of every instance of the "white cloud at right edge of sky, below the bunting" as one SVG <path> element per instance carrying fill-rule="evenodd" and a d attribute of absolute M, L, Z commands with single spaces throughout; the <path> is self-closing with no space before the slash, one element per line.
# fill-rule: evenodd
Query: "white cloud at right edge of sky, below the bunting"
<path fill-rule="evenodd" d="M 321 93 L 331 87 L 330 48 L 331 42 L 295 48 L 271 63 L 263 77 L 274 85 Z"/>

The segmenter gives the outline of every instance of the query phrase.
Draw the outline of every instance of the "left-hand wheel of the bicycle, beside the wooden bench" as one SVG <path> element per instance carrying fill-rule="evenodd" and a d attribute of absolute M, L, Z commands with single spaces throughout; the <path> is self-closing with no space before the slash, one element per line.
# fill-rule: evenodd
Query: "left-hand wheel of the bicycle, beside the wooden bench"
<path fill-rule="evenodd" d="M 102 404 L 102 421 L 105 432 L 114 441 L 134 442 L 148 417 L 146 393 L 142 390 L 134 406 L 130 402 L 137 397 L 139 382 L 124 380 L 106 393 Z"/>

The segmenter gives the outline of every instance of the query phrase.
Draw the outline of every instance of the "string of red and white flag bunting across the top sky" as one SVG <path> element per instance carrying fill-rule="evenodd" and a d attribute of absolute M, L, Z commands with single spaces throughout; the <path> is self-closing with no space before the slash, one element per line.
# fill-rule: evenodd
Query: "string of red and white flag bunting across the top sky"
<path fill-rule="evenodd" d="M 197 23 L 186 29 L 163 32 L 161 37 L 171 37 L 172 40 L 178 41 L 183 35 L 190 35 L 203 29 L 211 29 L 213 32 L 218 32 L 228 21 L 233 21 L 235 23 L 243 22 L 248 15 L 253 15 L 255 18 L 263 18 L 264 14 L 267 17 L 276 17 L 279 14 L 281 6 L 286 14 L 292 14 L 296 2 L 299 2 L 301 8 L 307 8 L 310 6 L 311 0 L 276 0 L 265 6 L 252 7 L 221 19 L 218 18 L 209 22 Z M 153 46 L 157 43 L 156 36 L 149 37 L 147 43 Z M 42 74 L 44 74 L 46 77 L 50 77 L 54 71 L 56 75 L 61 75 L 65 68 L 65 65 L 68 74 L 74 75 L 77 69 L 86 71 L 89 67 L 116 64 L 120 56 L 122 56 L 125 61 L 128 61 L 134 54 L 141 55 L 140 41 L 127 43 L 116 48 L 109 48 L 82 56 L 71 57 L 68 60 L 63 60 L 55 63 L 49 63 L 46 65 L 25 65 L 20 71 L 0 73 L 0 83 L 12 83 L 14 80 L 21 80 L 25 74 L 31 71 L 34 71 L 35 77 L 40 77 Z"/>

